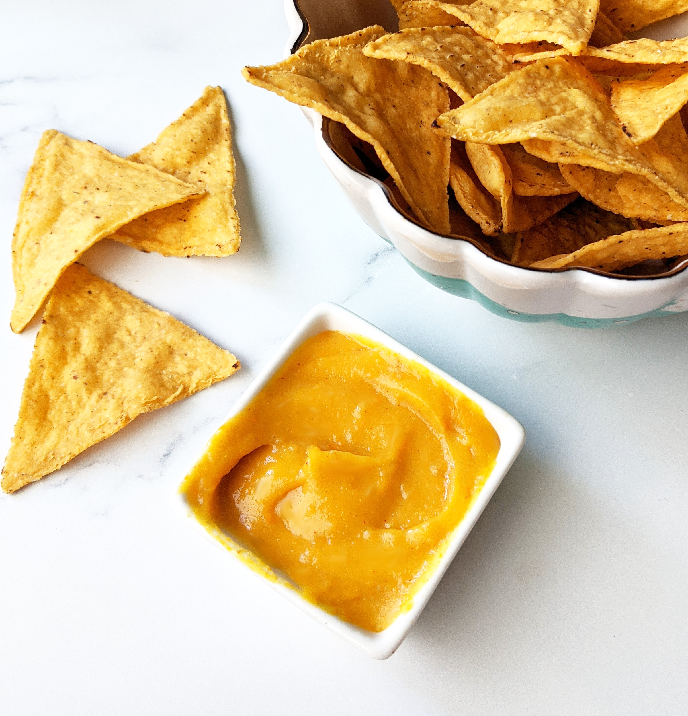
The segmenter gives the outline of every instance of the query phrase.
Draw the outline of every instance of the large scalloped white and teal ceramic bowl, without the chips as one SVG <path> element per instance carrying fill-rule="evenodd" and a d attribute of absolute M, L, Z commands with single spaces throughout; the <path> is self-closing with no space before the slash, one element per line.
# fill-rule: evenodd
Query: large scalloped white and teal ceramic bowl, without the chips
<path fill-rule="evenodd" d="M 370 24 L 396 29 L 389 0 L 285 0 L 291 35 L 285 54 L 305 42 L 336 37 Z M 655 26 L 649 36 L 688 34 L 686 16 Z M 332 125 L 304 108 L 320 156 L 363 221 L 397 248 L 424 279 L 518 321 L 556 321 L 594 328 L 688 311 L 688 263 L 654 276 L 604 274 L 594 269 L 526 269 L 489 255 L 473 238 L 449 238 L 421 227 L 400 206 L 394 190 L 363 173 L 338 142 Z M 339 125 L 336 125 L 339 126 Z"/>

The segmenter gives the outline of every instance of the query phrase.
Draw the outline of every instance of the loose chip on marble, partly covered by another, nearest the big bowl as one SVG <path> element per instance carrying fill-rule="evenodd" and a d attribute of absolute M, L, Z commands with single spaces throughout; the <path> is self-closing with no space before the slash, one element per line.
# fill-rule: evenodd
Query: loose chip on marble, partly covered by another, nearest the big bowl
<path fill-rule="evenodd" d="M 206 193 L 135 219 L 109 238 L 162 256 L 230 256 L 239 250 L 232 129 L 222 88 L 206 87 L 200 100 L 129 159 Z"/>

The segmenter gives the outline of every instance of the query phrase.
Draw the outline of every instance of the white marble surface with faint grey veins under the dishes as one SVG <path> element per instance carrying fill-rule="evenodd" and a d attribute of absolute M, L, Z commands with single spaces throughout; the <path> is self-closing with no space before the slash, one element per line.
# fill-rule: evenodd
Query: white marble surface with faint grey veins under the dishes
<path fill-rule="evenodd" d="M 250 87 L 280 0 L 26 0 L 0 24 L 1 311 L 24 173 L 49 127 L 127 155 L 201 93 L 232 105 L 244 243 L 226 259 L 103 241 L 84 263 L 240 357 L 0 497 L 0 712 L 634 715 L 688 710 L 688 314 L 583 331 L 424 283 L 345 203 L 297 107 Z M 169 493 L 305 311 L 336 301 L 529 432 L 410 637 L 340 642 L 192 533 Z M 0 452 L 36 333 L 0 335 Z"/>

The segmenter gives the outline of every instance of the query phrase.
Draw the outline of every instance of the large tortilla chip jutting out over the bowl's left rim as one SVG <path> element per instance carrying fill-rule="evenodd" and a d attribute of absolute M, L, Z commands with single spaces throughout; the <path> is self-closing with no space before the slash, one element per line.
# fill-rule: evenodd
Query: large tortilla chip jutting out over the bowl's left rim
<path fill-rule="evenodd" d="M 423 67 L 365 57 L 380 26 L 317 40 L 271 67 L 245 67 L 248 82 L 312 107 L 375 147 L 419 221 L 449 233 L 451 145 L 433 121 L 449 107 L 447 89 Z"/>

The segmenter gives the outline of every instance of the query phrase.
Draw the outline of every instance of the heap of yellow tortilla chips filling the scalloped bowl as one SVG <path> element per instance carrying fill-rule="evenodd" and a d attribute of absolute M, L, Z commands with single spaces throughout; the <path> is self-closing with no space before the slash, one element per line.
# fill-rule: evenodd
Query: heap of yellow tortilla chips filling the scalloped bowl
<path fill-rule="evenodd" d="M 246 67 L 244 77 L 346 125 L 378 155 L 408 218 L 443 236 L 468 236 L 498 258 L 640 274 L 648 271 L 633 267 L 650 261 L 661 274 L 688 254 L 684 226 L 657 233 L 688 221 L 688 135 L 679 117 L 688 102 L 688 39 L 623 34 L 686 11 L 688 2 L 393 5 L 400 32 L 373 26 L 316 40 L 270 67 Z M 432 80 L 450 110 L 438 113 L 446 100 L 430 91 Z M 567 218 L 557 241 L 556 217 L 574 201 L 581 230 Z M 407 211 L 403 202 L 395 208 Z M 447 216 L 461 227 L 456 233 Z M 528 262 L 527 235 L 545 223 L 547 241 Z M 573 256 L 601 241 L 584 263 Z M 614 243 L 624 246 L 618 261 L 609 258 Z M 554 256 L 569 259 L 542 263 Z"/>

